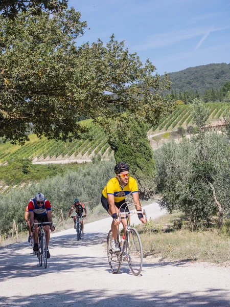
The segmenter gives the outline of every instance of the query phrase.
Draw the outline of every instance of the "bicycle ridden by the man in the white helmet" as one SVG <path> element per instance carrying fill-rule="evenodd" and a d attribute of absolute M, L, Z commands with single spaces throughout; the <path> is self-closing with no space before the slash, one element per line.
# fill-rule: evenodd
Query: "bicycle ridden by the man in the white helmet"
<path fill-rule="evenodd" d="M 35 228 L 35 225 L 37 225 L 38 227 L 38 248 L 39 248 L 37 252 L 34 252 L 34 255 L 37 255 L 40 267 L 42 266 L 43 262 L 45 269 L 47 268 L 47 241 L 45 239 L 45 232 L 43 225 L 46 224 L 50 224 L 52 226 L 51 222 L 39 222 L 33 224 L 33 228 Z"/>

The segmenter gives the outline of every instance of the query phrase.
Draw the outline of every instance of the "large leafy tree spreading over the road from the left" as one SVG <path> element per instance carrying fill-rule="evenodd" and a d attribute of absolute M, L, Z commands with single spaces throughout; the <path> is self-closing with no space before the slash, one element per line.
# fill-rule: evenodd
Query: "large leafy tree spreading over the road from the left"
<path fill-rule="evenodd" d="M 33 123 L 38 137 L 71 140 L 87 130 L 77 122 L 82 116 L 108 128 L 124 111 L 152 125 L 167 113 L 168 76 L 153 75 L 152 63 L 143 65 L 114 36 L 106 46 L 77 47 L 87 26 L 80 17 L 72 8 L 0 18 L 0 137 L 24 143 Z"/>

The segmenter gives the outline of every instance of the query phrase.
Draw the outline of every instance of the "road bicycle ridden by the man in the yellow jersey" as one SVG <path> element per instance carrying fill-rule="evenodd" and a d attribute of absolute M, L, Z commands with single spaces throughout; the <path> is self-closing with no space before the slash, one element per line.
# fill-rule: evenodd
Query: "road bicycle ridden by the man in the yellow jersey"
<path fill-rule="evenodd" d="M 126 203 L 128 205 L 133 205 Z M 118 253 L 113 253 L 112 248 L 112 231 L 109 230 L 107 236 L 107 255 L 109 266 L 113 274 L 117 274 L 120 271 L 122 261 L 127 260 L 129 264 L 129 268 L 133 275 L 137 276 L 142 271 L 143 266 L 143 250 L 142 243 L 137 230 L 130 226 L 130 215 L 142 213 L 146 216 L 145 210 L 142 209 L 142 212 L 135 210 L 129 210 L 129 212 L 119 212 L 118 215 L 121 220 L 121 216 L 124 215 L 126 218 L 126 234 L 123 242 L 123 246 L 121 246 L 121 237 L 120 233 L 118 233 L 118 245 L 121 249 Z"/>

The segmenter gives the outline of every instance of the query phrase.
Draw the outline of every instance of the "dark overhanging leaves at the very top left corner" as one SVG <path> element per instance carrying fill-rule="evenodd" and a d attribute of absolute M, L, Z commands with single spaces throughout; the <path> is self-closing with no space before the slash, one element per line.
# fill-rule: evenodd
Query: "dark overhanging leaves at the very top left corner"
<path fill-rule="evenodd" d="M 1 0 L 0 11 L 4 17 L 14 19 L 17 14 L 30 11 L 31 14 L 41 14 L 42 11 L 57 13 L 67 8 L 68 0 Z"/>

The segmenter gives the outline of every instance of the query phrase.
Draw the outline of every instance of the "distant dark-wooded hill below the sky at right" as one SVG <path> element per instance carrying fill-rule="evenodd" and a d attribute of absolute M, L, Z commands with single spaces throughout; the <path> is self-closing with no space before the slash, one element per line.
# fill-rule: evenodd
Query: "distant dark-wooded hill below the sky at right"
<path fill-rule="evenodd" d="M 208 64 L 190 67 L 185 70 L 169 73 L 172 89 L 181 91 L 198 91 L 219 89 L 226 81 L 230 81 L 230 63 Z"/>

